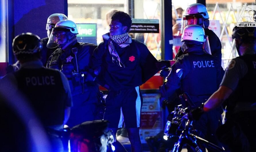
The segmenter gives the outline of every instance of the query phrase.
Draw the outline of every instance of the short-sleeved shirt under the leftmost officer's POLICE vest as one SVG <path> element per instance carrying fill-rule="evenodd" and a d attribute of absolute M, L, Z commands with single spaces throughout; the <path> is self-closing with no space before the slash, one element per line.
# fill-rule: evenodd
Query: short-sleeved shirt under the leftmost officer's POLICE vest
<path fill-rule="evenodd" d="M 42 68 L 43 64 L 41 61 L 31 61 L 31 62 L 27 62 L 27 63 L 23 63 L 21 65 L 21 68 L 24 69 L 39 69 Z M 64 91 L 66 94 L 66 99 L 65 101 L 63 101 L 65 103 L 65 106 L 67 107 L 71 107 L 72 106 L 72 100 L 71 100 L 71 93 L 70 93 L 70 88 L 69 88 L 69 84 L 68 81 L 65 77 L 64 74 L 60 73 L 60 77 L 61 77 L 61 81 L 64 87 Z M 35 81 L 34 81 L 35 80 Z M 37 81 L 36 79 L 33 80 L 33 84 L 41 84 L 42 82 Z M 30 81 L 32 83 L 32 81 Z M 29 82 L 28 82 L 29 83 Z M 44 81 L 45 84 L 50 84 L 53 83 L 51 81 L 51 78 L 47 78 Z M 4 88 L 3 91 L 7 96 L 11 96 L 10 92 L 17 92 L 18 90 L 18 82 L 16 80 L 16 77 L 14 76 L 13 73 L 9 73 L 7 75 L 5 75 L 5 77 L 3 77 L 2 79 L 0 79 L 0 84 L 1 84 L 1 88 Z M 46 95 L 47 96 L 47 95 Z M 54 127 L 54 126 L 53 126 Z M 54 129 L 60 129 L 60 126 L 56 126 L 58 128 L 54 128 Z M 63 127 L 62 127 L 63 128 Z"/>

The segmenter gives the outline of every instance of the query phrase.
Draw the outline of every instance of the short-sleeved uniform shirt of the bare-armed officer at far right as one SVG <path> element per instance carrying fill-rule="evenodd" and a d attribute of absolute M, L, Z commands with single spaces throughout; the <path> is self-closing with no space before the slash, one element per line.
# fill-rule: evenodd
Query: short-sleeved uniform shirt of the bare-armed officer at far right
<path fill-rule="evenodd" d="M 248 52 L 250 54 L 250 52 Z M 256 63 L 255 63 L 256 68 Z M 248 72 L 247 64 L 239 58 L 232 59 L 228 63 L 228 67 L 226 68 L 225 75 L 222 79 L 220 86 L 226 86 L 232 89 L 233 91 L 236 90 L 239 80 L 242 79 Z M 232 102 L 232 101 L 231 101 Z M 238 102 L 236 103 L 236 107 L 234 112 L 238 111 L 249 111 L 249 110 L 256 110 L 256 104 L 249 103 L 249 102 Z"/>

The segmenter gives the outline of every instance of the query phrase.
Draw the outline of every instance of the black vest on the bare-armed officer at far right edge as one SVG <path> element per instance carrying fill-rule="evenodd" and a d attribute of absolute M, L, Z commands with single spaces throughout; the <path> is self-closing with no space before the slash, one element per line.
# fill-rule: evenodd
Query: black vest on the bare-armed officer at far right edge
<path fill-rule="evenodd" d="M 256 54 L 239 56 L 247 67 L 248 72 L 239 80 L 238 85 L 231 95 L 231 102 L 256 102 Z"/>

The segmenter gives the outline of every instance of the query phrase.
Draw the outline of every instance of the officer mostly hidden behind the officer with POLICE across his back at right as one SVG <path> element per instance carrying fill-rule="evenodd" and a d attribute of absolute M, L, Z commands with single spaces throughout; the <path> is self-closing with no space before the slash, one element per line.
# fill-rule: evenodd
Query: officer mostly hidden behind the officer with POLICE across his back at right
<path fill-rule="evenodd" d="M 221 42 L 218 36 L 210 30 L 209 27 L 209 15 L 205 5 L 200 3 L 191 4 L 186 9 L 186 15 L 182 17 L 182 29 L 181 33 L 184 32 L 184 28 L 188 25 L 199 25 L 205 30 L 205 35 L 209 38 L 209 45 L 211 48 L 211 55 L 217 58 L 219 64 L 221 64 Z M 186 52 L 185 52 L 186 53 Z M 179 48 L 174 60 L 184 54 L 181 48 Z M 158 67 L 162 69 L 171 67 L 173 61 L 161 61 L 158 62 Z M 224 71 L 223 71 L 224 73 Z"/>

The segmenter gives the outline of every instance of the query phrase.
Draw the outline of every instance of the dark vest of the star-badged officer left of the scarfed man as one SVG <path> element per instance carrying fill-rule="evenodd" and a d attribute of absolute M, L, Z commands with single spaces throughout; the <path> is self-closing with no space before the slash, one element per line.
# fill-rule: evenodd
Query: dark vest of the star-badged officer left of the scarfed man
<path fill-rule="evenodd" d="M 77 42 L 73 47 L 77 47 L 78 49 L 77 63 L 79 73 L 77 73 L 77 75 L 72 73 L 76 71 L 77 63 L 75 55 L 71 52 L 71 48 L 67 49 L 67 51 L 63 51 L 61 48 L 55 50 L 52 54 L 49 68 L 59 69 L 62 73 L 64 73 L 64 75 L 68 78 L 72 96 L 76 96 L 85 92 L 92 92 L 92 90 L 94 91 L 93 93 L 96 93 L 95 90 L 99 92 L 96 82 L 86 82 L 86 75 L 82 77 L 82 74 L 80 73 L 88 69 L 90 53 L 92 53 L 96 46 L 92 46 L 89 43 Z"/>

